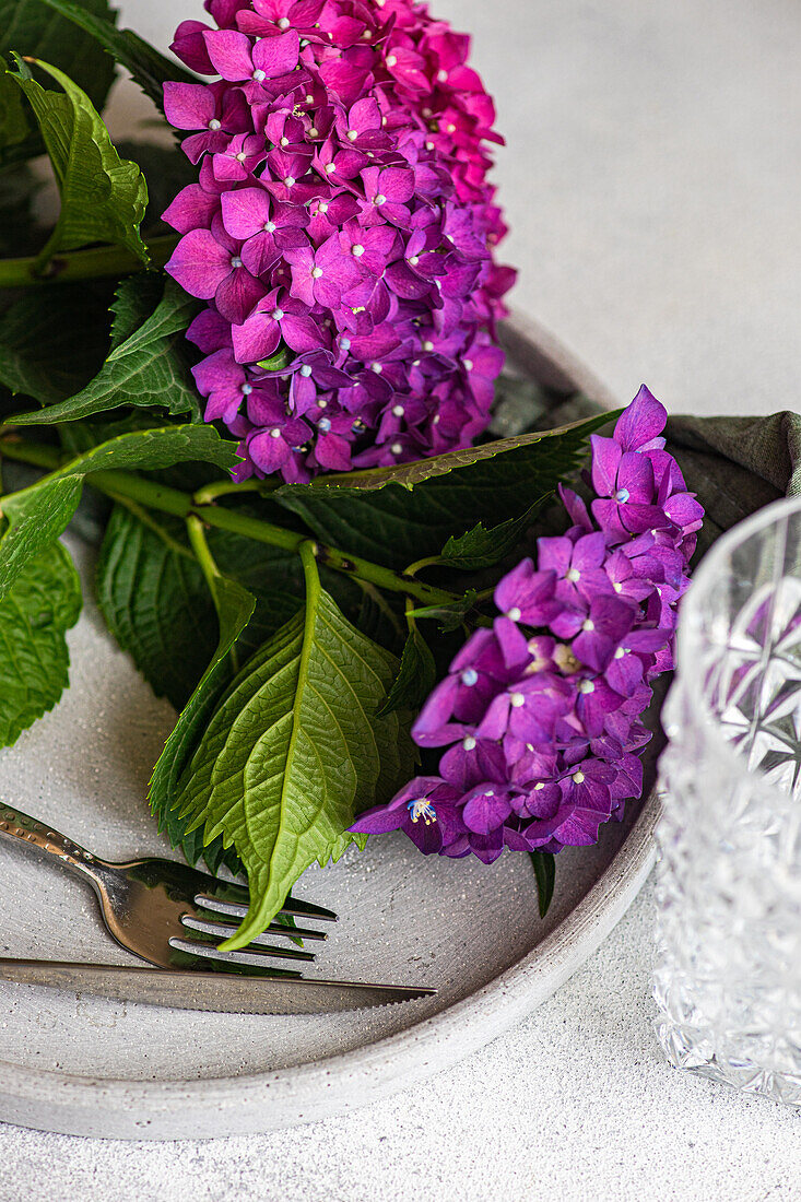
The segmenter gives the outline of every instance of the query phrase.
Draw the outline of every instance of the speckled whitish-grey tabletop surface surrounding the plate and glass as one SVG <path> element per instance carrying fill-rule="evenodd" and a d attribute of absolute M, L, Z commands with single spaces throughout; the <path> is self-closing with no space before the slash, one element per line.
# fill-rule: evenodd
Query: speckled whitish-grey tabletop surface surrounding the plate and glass
<path fill-rule="evenodd" d="M 176 12 L 198 7 L 123 5 L 160 41 Z M 437 11 L 476 35 L 498 99 L 515 303 L 621 399 L 646 380 L 675 411 L 797 406 L 796 0 L 438 0 Z M 118 115 L 130 105 L 120 96 Z M 0 1127 L 0 1202 L 800 1196 L 799 1115 L 663 1063 L 652 922 L 648 886 L 527 1022 L 367 1113 L 206 1144 Z"/>

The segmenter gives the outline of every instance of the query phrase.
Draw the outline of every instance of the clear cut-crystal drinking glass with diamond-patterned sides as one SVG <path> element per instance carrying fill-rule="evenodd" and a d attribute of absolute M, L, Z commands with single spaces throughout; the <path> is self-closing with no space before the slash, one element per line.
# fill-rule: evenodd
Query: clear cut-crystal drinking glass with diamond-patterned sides
<path fill-rule="evenodd" d="M 801 1106 L 801 500 L 708 553 L 663 719 L 657 1033 L 682 1069 Z"/>

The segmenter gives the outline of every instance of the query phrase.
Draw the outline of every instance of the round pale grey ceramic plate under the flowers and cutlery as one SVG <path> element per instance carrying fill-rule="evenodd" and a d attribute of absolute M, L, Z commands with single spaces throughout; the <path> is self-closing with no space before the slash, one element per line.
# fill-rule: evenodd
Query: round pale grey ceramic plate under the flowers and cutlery
<path fill-rule="evenodd" d="M 610 404 L 542 332 L 512 322 L 506 341 L 541 382 Z M 76 542 L 72 551 L 89 582 L 93 553 Z M 71 688 L 1 752 L 2 795 L 101 856 L 164 853 L 143 797 L 173 714 L 85 593 Z M 0 1119 L 76 1135 L 209 1138 L 368 1105 L 481 1047 L 583 963 L 648 873 L 657 815 L 652 793 L 597 847 L 560 853 L 545 921 L 526 856 L 486 868 L 423 857 L 396 834 L 309 870 L 298 894 L 340 921 L 308 975 L 434 986 L 427 1000 L 332 1016 L 210 1014 L 0 983 Z M 19 845 L 0 845 L 0 915 L 5 956 L 125 963 L 91 891 Z"/>

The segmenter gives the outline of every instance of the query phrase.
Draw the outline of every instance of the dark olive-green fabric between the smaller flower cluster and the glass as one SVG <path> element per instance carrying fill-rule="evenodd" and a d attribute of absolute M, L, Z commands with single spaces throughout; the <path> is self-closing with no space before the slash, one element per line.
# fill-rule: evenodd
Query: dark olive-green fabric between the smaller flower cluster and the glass
<path fill-rule="evenodd" d="M 671 417 L 668 448 L 706 510 L 701 551 L 779 496 L 801 493 L 801 415 Z"/>

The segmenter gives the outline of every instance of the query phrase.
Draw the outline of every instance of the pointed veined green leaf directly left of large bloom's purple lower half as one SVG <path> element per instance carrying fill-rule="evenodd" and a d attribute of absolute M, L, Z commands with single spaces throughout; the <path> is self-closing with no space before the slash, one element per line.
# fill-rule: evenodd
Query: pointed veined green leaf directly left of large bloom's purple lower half
<path fill-rule="evenodd" d="M 114 303 L 112 350 L 100 373 L 61 404 L 16 415 L 14 426 L 75 422 L 120 405 L 159 405 L 170 413 L 190 413 L 200 421 L 184 338 L 195 308 L 195 302 L 167 278 L 148 272 L 123 280 Z"/>

